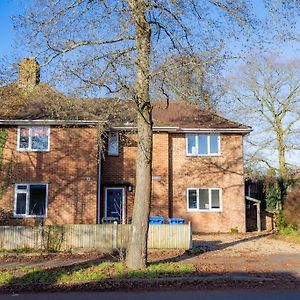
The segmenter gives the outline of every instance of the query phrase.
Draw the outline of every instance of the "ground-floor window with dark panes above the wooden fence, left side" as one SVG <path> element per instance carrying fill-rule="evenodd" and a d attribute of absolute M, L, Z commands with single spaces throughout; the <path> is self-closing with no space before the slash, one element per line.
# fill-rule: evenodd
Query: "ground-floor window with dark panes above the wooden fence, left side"
<path fill-rule="evenodd" d="M 14 216 L 45 217 L 47 197 L 47 184 L 16 184 Z"/>

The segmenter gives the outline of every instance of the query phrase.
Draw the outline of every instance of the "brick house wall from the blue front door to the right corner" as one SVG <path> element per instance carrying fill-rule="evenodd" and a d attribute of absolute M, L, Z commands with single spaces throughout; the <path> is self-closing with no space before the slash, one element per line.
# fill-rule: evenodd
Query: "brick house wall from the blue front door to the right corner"
<path fill-rule="evenodd" d="M 120 155 L 102 161 L 102 197 L 110 186 L 135 188 L 137 137 L 123 133 Z M 192 221 L 194 231 L 228 232 L 231 228 L 245 231 L 243 177 L 243 140 L 241 135 L 221 136 L 218 157 L 186 156 L 185 134 L 155 132 L 153 136 L 153 186 L 151 215 L 181 217 Z M 222 189 L 221 212 L 188 212 L 187 188 L 217 187 Z M 126 188 L 126 217 L 132 216 L 134 191 Z M 104 206 L 102 206 L 102 214 Z"/>

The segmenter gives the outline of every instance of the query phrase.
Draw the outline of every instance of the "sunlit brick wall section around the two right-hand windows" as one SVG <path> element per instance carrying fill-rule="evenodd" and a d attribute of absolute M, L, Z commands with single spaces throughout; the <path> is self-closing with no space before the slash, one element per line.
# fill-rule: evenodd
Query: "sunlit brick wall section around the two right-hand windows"
<path fill-rule="evenodd" d="M 237 227 L 245 231 L 242 136 L 221 135 L 221 155 L 189 157 L 185 153 L 185 135 L 170 136 L 172 149 L 173 217 L 192 221 L 194 231 L 228 232 Z M 187 188 L 222 189 L 222 212 L 188 212 Z"/>

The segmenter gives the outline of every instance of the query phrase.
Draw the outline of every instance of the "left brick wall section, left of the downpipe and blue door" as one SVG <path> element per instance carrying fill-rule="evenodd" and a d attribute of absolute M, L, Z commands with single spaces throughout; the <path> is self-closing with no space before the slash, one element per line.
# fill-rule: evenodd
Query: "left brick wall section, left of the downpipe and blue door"
<path fill-rule="evenodd" d="M 96 223 L 97 129 L 51 127 L 49 152 L 16 150 L 17 128 L 8 128 L 3 169 L 11 162 L 7 192 L 0 200 L 2 223 L 34 225 L 35 218 L 13 218 L 14 183 L 48 183 L 46 224 Z M 7 171 L 2 172 L 2 177 Z"/>

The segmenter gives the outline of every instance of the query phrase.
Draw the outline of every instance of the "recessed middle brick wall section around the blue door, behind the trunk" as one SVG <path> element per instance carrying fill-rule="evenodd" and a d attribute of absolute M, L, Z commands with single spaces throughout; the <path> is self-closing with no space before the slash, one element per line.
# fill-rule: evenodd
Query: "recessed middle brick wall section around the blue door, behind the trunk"
<path fill-rule="evenodd" d="M 169 186 L 169 151 L 168 133 L 153 135 L 153 183 L 151 214 L 168 217 L 168 186 Z M 135 133 L 120 133 L 120 150 L 118 156 L 108 156 L 104 153 L 102 159 L 102 199 L 106 187 L 125 187 L 126 219 L 132 216 L 135 192 L 135 158 L 137 152 L 137 135 Z M 128 185 L 133 185 L 133 191 L 128 191 Z M 101 205 L 101 218 L 104 216 L 104 201 Z"/>

